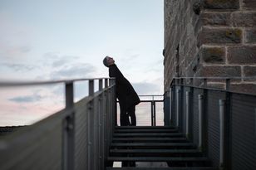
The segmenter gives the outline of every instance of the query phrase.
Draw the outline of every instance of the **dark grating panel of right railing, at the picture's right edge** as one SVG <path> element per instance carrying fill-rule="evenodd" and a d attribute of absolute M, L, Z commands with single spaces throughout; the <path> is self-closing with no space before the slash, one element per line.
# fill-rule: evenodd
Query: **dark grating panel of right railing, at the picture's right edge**
<path fill-rule="evenodd" d="M 232 169 L 256 168 L 255 108 L 256 96 L 233 94 Z"/>

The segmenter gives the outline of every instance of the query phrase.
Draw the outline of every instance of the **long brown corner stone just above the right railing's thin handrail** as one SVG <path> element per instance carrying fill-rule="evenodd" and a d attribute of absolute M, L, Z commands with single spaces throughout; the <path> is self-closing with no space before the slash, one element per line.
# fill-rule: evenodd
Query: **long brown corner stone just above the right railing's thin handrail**
<path fill-rule="evenodd" d="M 202 77 L 234 77 L 241 76 L 240 66 L 203 66 L 199 71 Z"/>

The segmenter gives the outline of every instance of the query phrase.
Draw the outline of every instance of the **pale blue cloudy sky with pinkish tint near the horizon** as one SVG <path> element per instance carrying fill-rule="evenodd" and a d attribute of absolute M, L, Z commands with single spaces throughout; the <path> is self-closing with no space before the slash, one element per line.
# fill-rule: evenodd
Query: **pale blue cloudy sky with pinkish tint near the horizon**
<path fill-rule="evenodd" d="M 102 60 L 112 56 L 139 95 L 162 95 L 163 26 L 163 0 L 0 0 L 0 80 L 108 77 Z M 75 85 L 79 100 L 86 82 Z M 62 109 L 63 91 L 1 88 L 0 126 Z"/>

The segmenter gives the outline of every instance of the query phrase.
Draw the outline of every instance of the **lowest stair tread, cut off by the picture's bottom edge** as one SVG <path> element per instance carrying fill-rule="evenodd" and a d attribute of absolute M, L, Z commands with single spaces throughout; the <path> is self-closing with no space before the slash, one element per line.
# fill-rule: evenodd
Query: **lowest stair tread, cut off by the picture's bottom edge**
<path fill-rule="evenodd" d="M 172 167 L 172 168 L 135 168 L 135 167 L 123 167 L 123 168 L 109 168 L 106 170 L 219 170 L 219 168 L 213 167 Z"/>

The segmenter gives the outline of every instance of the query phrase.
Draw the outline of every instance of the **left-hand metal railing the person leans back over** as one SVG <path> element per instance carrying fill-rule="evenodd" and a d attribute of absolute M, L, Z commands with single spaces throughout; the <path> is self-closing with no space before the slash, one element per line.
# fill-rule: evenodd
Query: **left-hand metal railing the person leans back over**
<path fill-rule="evenodd" d="M 74 103 L 73 83 L 81 80 L 88 81 L 89 95 Z M 0 169 L 104 169 L 116 122 L 115 80 L 0 82 L 0 87 L 49 84 L 65 84 L 66 108 L 1 137 Z"/>

